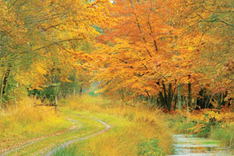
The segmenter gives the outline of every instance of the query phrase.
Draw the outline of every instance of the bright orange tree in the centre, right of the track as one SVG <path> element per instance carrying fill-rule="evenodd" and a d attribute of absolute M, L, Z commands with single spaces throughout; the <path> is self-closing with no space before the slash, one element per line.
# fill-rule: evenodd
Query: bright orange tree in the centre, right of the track
<path fill-rule="evenodd" d="M 98 40 L 101 65 L 98 79 L 103 90 L 128 90 L 132 97 L 153 100 L 171 107 L 177 60 L 170 3 L 164 1 L 118 1 L 111 9 L 116 19 Z M 108 43 L 108 42 L 109 43 Z"/>

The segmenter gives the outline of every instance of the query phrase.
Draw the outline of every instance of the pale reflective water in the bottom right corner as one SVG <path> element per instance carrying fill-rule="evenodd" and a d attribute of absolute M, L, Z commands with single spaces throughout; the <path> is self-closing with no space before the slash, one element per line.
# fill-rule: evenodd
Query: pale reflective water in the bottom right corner
<path fill-rule="evenodd" d="M 174 135 L 174 152 L 170 156 L 233 156 L 219 141 L 195 136 Z"/>

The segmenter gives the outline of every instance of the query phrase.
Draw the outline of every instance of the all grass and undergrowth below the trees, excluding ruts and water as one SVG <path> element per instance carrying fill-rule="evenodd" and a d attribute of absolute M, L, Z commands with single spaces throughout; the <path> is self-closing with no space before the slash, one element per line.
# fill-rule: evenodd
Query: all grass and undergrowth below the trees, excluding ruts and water
<path fill-rule="evenodd" d="M 44 141 L 43 138 L 20 153 L 30 154 L 33 149 L 46 154 L 66 141 L 102 129 L 103 126 L 85 118 L 100 119 L 109 124 L 111 129 L 59 149 L 54 155 L 167 155 L 173 151 L 172 135 L 176 133 L 219 140 L 222 146 L 233 149 L 233 115 L 226 108 L 221 109 L 220 113 L 209 109 L 163 113 L 161 109 L 146 104 L 126 105 L 101 95 L 87 94 L 59 100 L 55 113 L 54 107 L 34 107 L 33 100 L 26 98 L 18 103 L 18 107 L 12 106 L 1 111 L 1 151 L 45 137 L 48 139 Z M 68 118 L 79 121 L 81 131 L 53 138 L 54 134 L 63 133 L 74 126 Z"/>

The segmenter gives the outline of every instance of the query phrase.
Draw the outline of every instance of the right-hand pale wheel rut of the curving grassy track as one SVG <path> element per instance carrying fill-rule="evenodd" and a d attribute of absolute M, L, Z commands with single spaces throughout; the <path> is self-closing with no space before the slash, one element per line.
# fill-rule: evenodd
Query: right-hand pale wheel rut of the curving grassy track
<path fill-rule="evenodd" d="M 74 143 L 74 142 L 78 142 L 78 141 L 81 141 L 81 140 L 86 140 L 86 139 L 95 137 L 95 136 L 97 136 L 97 135 L 100 135 L 100 134 L 102 134 L 102 133 L 105 133 L 105 132 L 107 132 L 107 131 L 111 128 L 110 125 L 108 125 L 107 123 L 105 123 L 105 122 L 103 122 L 103 121 L 101 121 L 101 120 L 97 120 L 97 119 L 93 119 L 93 120 L 95 120 L 95 121 L 97 121 L 97 122 L 100 122 L 101 124 L 105 125 L 106 128 L 105 128 L 104 130 L 98 131 L 98 132 L 93 133 L 93 134 L 91 134 L 91 135 L 88 135 L 88 136 L 86 136 L 86 137 L 77 138 L 77 139 L 68 141 L 68 142 L 66 142 L 66 143 L 63 143 L 62 145 L 60 145 L 60 146 L 54 148 L 53 150 L 49 151 L 49 152 L 46 154 L 46 156 L 51 156 L 51 155 L 53 155 L 56 151 L 58 151 L 58 150 L 60 150 L 60 149 L 62 149 L 62 148 L 65 148 L 65 147 L 67 147 L 68 145 L 70 145 L 70 144 L 72 144 L 72 143 Z"/>

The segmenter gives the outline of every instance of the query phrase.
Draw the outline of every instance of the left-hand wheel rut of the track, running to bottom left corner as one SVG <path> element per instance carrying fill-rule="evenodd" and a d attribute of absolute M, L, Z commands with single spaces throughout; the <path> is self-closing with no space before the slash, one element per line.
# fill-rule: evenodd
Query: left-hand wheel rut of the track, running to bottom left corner
<path fill-rule="evenodd" d="M 65 129 L 63 131 L 60 131 L 60 132 L 57 132 L 55 134 L 50 134 L 50 135 L 42 136 L 42 137 L 39 137 L 39 138 L 34 138 L 32 140 L 25 141 L 25 142 L 23 142 L 23 143 L 21 143 L 21 144 L 19 144 L 17 146 L 14 146 L 14 147 L 11 147 L 11 148 L 8 148 L 8 149 L 5 149 L 5 150 L 1 150 L 0 151 L 0 156 L 5 156 L 5 155 L 8 155 L 8 154 L 10 154 L 12 152 L 16 152 L 18 150 L 21 150 L 21 149 L 27 147 L 27 146 L 30 146 L 30 145 L 32 145 L 34 143 L 37 143 L 37 142 L 39 142 L 41 140 L 44 140 L 46 138 L 62 135 L 62 134 L 66 133 L 68 131 L 71 131 L 71 130 L 78 131 L 78 130 L 80 130 L 82 128 L 81 126 L 77 127 L 77 125 L 75 125 L 75 123 L 80 123 L 79 121 L 74 120 L 74 119 L 67 119 L 67 120 L 71 121 L 73 123 L 73 125 L 70 128 Z"/>

